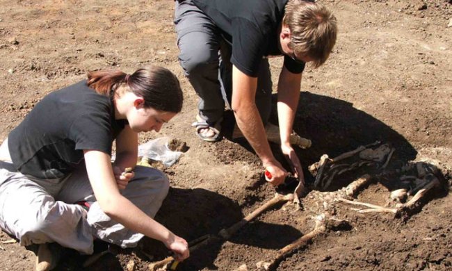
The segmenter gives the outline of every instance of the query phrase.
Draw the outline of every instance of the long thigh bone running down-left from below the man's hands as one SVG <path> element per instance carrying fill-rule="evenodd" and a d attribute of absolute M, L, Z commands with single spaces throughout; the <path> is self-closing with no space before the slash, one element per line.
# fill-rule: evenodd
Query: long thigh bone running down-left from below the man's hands
<path fill-rule="evenodd" d="M 289 200 L 293 200 L 293 194 L 280 195 L 276 193 L 273 199 L 270 199 L 268 202 L 257 208 L 255 211 L 252 211 L 252 213 L 245 216 L 242 220 L 232 225 L 231 227 L 227 229 L 222 229 L 218 234 L 225 240 L 228 240 L 229 238 L 231 238 L 232 235 L 234 235 L 234 233 L 236 233 L 236 231 L 243 227 L 243 225 L 247 224 L 251 220 L 254 220 L 257 216 L 259 216 L 261 213 L 264 213 L 264 211 L 266 211 L 267 209 L 282 202 L 288 202 Z"/>

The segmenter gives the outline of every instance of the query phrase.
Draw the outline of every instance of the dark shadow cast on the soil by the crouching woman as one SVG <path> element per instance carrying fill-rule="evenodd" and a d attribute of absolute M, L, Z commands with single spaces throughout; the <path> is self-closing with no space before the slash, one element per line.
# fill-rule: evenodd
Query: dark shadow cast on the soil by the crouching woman
<path fill-rule="evenodd" d="M 155 219 L 165 225 L 172 232 L 185 238 L 189 243 L 191 240 L 210 234 L 216 236 L 221 230 L 230 227 L 243 218 L 240 206 L 232 199 L 204 189 L 179 189 L 170 188 L 168 197 L 156 215 Z M 254 233 L 233 236 L 232 243 L 264 247 L 269 249 L 280 249 L 289 240 L 302 236 L 302 233 L 290 226 L 267 224 L 256 222 L 250 229 Z M 264 241 L 265 238 L 256 236 L 268 236 L 284 232 L 285 238 L 274 242 Z M 253 237 L 254 236 L 254 237 Z M 216 270 L 213 265 L 225 240 L 221 238 L 212 239 L 209 244 L 191 252 L 190 258 L 179 263 L 178 270 L 202 270 L 204 268 Z M 106 250 L 108 245 L 103 242 L 95 243 L 95 253 Z M 66 249 L 57 270 L 124 270 L 124 263 L 133 259 L 136 270 L 147 270 L 150 262 L 160 261 L 170 256 L 169 250 L 157 240 L 143 238 L 138 247 L 134 249 L 120 249 L 115 247 L 118 254 L 105 254 L 88 268 L 83 268 L 83 263 L 88 256 L 81 256 L 77 252 Z M 124 259 L 128 259 L 124 261 Z"/>

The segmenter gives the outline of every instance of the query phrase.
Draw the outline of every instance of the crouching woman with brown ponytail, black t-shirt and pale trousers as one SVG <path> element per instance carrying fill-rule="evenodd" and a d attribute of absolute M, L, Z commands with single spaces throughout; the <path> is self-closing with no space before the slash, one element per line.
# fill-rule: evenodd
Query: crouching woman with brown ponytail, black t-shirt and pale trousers
<path fill-rule="evenodd" d="M 1 229 L 21 245 L 42 244 L 39 270 L 56 265 L 47 243 L 92 254 L 93 238 L 134 247 L 148 236 L 187 258 L 186 240 L 152 219 L 167 177 L 136 166 L 138 133 L 158 132 L 182 100 L 176 76 L 162 67 L 90 72 L 51 92 L 0 147 Z M 86 211 L 77 202 L 93 203 Z"/>

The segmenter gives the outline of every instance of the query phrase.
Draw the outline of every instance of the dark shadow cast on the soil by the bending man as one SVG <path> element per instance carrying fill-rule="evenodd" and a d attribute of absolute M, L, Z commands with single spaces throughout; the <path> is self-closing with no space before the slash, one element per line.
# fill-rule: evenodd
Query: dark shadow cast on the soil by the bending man
<path fill-rule="evenodd" d="M 277 124 L 277 95 L 272 97 L 273 110 L 270 122 Z M 231 139 L 234 116 L 227 113 L 225 117 L 225 137 Z M 323 154 L 338 156 L 346 151 L 369 145 L 380 140 L 396 148 L 392 164 L 401 166 L 416 158 L 417 151 L 401 134 L 375 117 L 353 107 L 348 101 L 332 97 L 300 92 L 298 109 L 293 123 L 293 130 L 303 138 L 312 140 L 312 147 L 300 149 L 295 147 L 305 172 L 307 183 L 313 181 L 307 167 L 317 162 Z M 234 140 L 252 151 L 244 139 Z M 273 154 L 286 169 L 289 165 L 277 144 L 271 144 Z M 344 183 L 346 185 L 348 183 Z"/>

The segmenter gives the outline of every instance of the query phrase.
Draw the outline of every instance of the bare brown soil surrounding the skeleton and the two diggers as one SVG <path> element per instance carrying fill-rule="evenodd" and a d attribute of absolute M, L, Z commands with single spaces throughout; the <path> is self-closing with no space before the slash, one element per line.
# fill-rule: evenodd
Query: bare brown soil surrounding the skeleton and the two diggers
<path fill-rule="evenodd" d="M 405 219 L 387 213 L 357 213 L 335 205 L 335 217 L 350 227 L 328 231 L 285 256 L 276 270 L 452 270 L 452 7 L 449 0 L 328 0 L 339 38 L 330 60 L 307 68 L 300 90 L 295 130 L 312 139 L 296 149 L 305 167 L 307 195 L 302 210 L 273 208 L 247 224 L 231 240 L 217 240 L 191 254 L 178 270 L 257 270 L 277 250 L 314 227 L 318 215 L 313 176 L 307 166 L 375 140 L 396 148 L 389 168 L 407 161 L 437 165 L 445 189 Z M 190 124 L 197 98 L 177 62 L 173 1 L 0 0 L 0 138 L 16 126 L 44 95 L 84 78 L 91 69 L 133 72 L 143 65 L 174 71 L 185 104 L 161 134 L 188 151 L 165 169 L 172 189 L 156 220 L 187 240 L 216 234 L 273 197 L 263 168 L 244 142 L 209 144 L 195 137 Z M 448 26 L 449 25 L 449 26 Z M 272 60 L 273 82 L 280 59 Z M 1 140 L 0 140 L 1 141 Z M 275 155 L 282 157 L 277 145 Z M 284 160 L 284 158 L 282 158 Z M 365 170 L 364 170 L 365 172 Z M 364 173 L 335 179 L 330 190 Z M 397 179 L 376 179 L 357 197 L 384 205 Z M 449 182 L 449 183 L 448 183 Z M 319 205 L 320 204 L 320 205 Z M 0 241 L 10 240 L 0 232 Z M 98 246 L 102 249 L 102 244 Z M 152 259 L 145 254 L 152 255 Z M 104 256 L 88 270 L 135 270 L 168 255 L 145 238 L 136 249 Z M 69 251 L 58 270 L 83 270 L 86 257 Z M 32 270 L 34 254 L 17 244 L 0 243 L 1 270 Z"/>

